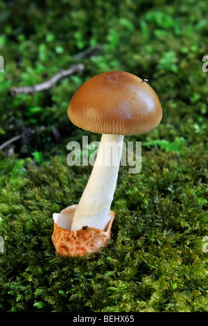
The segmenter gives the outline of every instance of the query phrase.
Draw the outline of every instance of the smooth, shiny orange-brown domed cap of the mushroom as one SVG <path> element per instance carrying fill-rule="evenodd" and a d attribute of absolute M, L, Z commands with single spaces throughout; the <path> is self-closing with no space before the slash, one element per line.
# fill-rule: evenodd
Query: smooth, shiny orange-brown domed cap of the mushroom
<path fill-rule="evenodd" d="M 68 116 L 73 124 L 92 132 L 139 135 L 159 125 L 162 106 L 141 78 L 109 71 L 87 80 L 73 94 Z"/>

